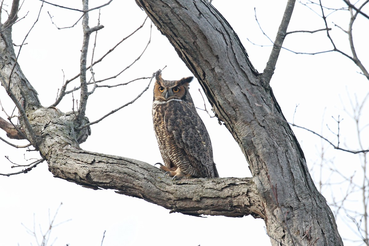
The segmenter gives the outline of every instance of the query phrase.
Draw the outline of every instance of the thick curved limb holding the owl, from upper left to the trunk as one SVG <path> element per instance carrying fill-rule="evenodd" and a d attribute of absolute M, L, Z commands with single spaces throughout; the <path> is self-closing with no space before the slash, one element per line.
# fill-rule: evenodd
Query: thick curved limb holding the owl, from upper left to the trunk
<path fill-rule="evenodd" d="M 264 218 L 264 205 L 250 178 L 183 178 L 172 182 L 150 164 L 82 150 L 79 143 L 86 140 L 90 129 L 76 130 L 80 127 L 77 112 L 63 113 L 55 107 L 42 107 L 37 92 L 16 63 L 11 28 L 0 32 L 0 35 L 1 85 L 18 104 L 20 114 L 24 113 L 25 120 L 20 117 L 20 131 L 29 140 L 31 135 L 37 139 L 34 147 L 46 158 L 55 177 L 88 188 L 114 189 L 117 193 L 142 198 L 172 212 L 230 217 L 251 214 Z M 82 124 L 86 122 L 84 119 Z M 1 120 L 0 128 L 11 134 L 8 135 L 10 138 L 22 138 L 9 124 Z"/>

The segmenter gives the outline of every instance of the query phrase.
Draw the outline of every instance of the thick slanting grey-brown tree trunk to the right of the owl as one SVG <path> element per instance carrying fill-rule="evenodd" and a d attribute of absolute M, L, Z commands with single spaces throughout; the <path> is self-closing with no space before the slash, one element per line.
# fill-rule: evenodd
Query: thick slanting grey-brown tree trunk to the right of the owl
<path fill-rule="evenodd" d="M 266 204 L 272 245 L 343 245 L 271 88 L 262 86 L 228 22 L 205 0 L 137 2 L 199 79 L 244 152 Z"/>

